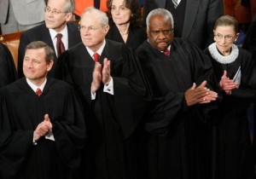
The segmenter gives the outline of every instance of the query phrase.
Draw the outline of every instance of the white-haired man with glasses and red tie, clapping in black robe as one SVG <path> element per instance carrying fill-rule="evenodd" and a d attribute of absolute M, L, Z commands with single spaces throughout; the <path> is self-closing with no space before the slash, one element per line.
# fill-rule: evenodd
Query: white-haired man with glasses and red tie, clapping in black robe
<path fill-rule="evenodd" d="M 85 9 L 79 30 L 82 43 L 67 49 L 55 70 L 84 101 L 88 138 L 78 178 L 137 179 L 134 131 L 147 100 L 137 56 L 105 38 L 108 16 L 99 9 Z"/>

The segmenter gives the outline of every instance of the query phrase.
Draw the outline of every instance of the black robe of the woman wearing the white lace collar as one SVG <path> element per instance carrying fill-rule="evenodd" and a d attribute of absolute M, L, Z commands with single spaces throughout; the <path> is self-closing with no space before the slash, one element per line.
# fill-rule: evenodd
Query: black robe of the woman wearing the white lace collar
<path fill-rule="evenodd" d="M 256 73 L 252 55 L 239 48 L 236 61 L 222 64 L 212 58 L 209 49 L 206 54 L 212 61 L 218 82 L 224 70 L 229 78 L 234 78 L 241 66 L 241 84 L 231 95 L 223 92 L 223 101 L 218 111 L 216 179 L 253 179 L 253 148 L 250 139 L 247 109 L 255 101 Z"/>

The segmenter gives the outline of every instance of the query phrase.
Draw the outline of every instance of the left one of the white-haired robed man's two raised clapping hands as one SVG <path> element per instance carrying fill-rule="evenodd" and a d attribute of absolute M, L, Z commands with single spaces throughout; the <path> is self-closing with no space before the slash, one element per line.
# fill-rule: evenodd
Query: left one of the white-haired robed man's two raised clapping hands
<path fill-rule="evenodd" d="M 102 83 L 102 65 L 99 62 L 95 63 L 94 70 L 92 72 L 92 82 L 90 90 L 92 93 L 95 93 L 98 90 Z"/>

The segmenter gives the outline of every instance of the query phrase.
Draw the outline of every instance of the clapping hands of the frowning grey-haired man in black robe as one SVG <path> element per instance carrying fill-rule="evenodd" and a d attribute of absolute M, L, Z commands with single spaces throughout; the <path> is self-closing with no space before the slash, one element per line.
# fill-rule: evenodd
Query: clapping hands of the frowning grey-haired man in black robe
<path fill-rule="evenodd" d="M 194 83 L 189 90 L 185 92 L 185 99 L 188 107 L 195 104 L 209 103 L 215 101 L 218 94 L 212 90 L 207 89 L 207 81 L 202 82 L 198 87 Z"/>

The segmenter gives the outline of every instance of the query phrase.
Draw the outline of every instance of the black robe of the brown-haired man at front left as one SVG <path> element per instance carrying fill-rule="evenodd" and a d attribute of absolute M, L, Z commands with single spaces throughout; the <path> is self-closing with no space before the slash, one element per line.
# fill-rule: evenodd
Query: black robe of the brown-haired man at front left
<path fill-rule="evenodd" d="M 84 114 L 73 87 L 48 78 L 38 96 L 20 78 L 0 93 L 0 173 L 3 178 L 69 178 L 80 162 L 84 146 Z M 41 137 L 33 145 L 33 131 L 48 113 L 55 141 Z"/>

